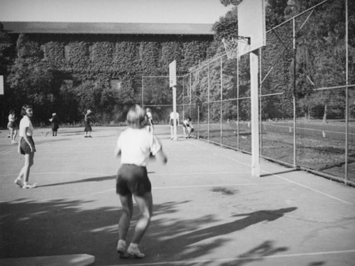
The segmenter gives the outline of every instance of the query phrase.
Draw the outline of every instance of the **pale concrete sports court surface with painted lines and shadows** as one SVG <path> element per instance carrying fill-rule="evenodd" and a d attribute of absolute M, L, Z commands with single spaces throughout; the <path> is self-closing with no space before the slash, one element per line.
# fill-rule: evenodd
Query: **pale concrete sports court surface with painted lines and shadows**
<path fill-rule="evenodd" d="M 152 160 L 154 216 L 143 260 L 116 255 L 119 198 L 114 145 L 124 127 L 35 129 L 31 183 L 13 184 L 23 165 L 0 133 L 0 259 L 88 254 L 96 265 L 355 265 L 355 188 L 261 161 L 197 139 L 155 132 L 168 164 Z M 46 135 L 47 134 L 47 135 Z M 133 225 L 138 218 L 135 208 Z M 132 232 L 129 234 L 131 237 Z"/>

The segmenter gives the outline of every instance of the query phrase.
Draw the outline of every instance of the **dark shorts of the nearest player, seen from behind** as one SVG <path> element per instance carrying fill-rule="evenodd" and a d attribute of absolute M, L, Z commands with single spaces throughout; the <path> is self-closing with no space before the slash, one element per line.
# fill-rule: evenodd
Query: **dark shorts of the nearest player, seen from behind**
<path fill-rule="evenodd" d="M 130 194 L 143 196 L 151 190 L 152 185 L 145 166 L 122 164 L 116 176 L 116 193 L 123 196 Z"/>

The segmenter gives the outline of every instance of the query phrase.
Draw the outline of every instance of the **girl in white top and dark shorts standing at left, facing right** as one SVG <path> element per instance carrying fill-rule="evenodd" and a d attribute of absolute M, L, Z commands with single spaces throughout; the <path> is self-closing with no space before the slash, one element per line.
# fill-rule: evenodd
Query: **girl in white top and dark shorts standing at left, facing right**
<path fill-rule="evenodd" d="M 18 132 L 18 136 L 20 137 L 20 141 L 18 142 L 18 153 L 23 154 L 25 157 L 25 164 L 14 182 L 21 188 L 34 188 L 35 185 L 28 183 L 30 168 L 33 166 L 33 157 L 35 156 L 35 143 L 32 138 L 33 125 L 31 122 L 31 117 L 33 117 L 32 106 L 23 105 L 21 115 L 23 115 L 23 118 L 21 119 L 20 130 Z"/>

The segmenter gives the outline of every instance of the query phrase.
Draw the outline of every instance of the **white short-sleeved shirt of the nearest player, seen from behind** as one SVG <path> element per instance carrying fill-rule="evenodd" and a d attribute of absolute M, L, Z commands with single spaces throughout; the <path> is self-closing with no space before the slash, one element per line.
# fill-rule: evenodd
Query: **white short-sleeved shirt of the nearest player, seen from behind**
<path fill-rule="evenodd" d="M 119 135 L 117 146 L 121 150 L 121 164 L 146 166 L 149 155 L 157 154 L 161 144 L 146 129 L 126 129 Z"/>

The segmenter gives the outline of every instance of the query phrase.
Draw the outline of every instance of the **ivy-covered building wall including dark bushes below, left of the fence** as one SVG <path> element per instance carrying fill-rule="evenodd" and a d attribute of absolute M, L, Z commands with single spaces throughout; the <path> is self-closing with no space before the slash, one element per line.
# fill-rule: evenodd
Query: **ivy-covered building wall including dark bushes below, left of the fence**
<path fill-rule="evenodd" d="M 124 112 L 141 102 L 143 75 L 177 74 L 211 54 L 213 36 L 102 34 L 11 34 L 12 59 L 4 66 L 6 97 L 0 99 L 0 124 L 9 109 L 35 106 L 35 123 L 82 121 L 87 109 L 102 123 L 124 121 Z M 9 38 L 6 38 L 6 40 Z M 1 43 L 1 41 L 0 41 Z M 18 114 L 19 116 L 19 114 Z"/>

